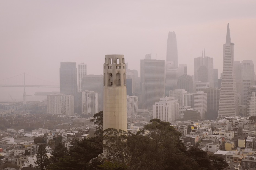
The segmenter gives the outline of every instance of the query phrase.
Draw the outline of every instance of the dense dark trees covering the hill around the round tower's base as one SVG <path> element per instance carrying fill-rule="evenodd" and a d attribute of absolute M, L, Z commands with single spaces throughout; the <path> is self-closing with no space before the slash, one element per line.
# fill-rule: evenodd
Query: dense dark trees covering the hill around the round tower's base
<path fill-rule="evenodd" d="M 223 158 L 208 155 L 199 148 L 187 150 L 179 140 L 181 134 L 170 123 L 159 119 L 152 119 L 137 134 L 113 128 L 102 132 L 102 111 L 95 114 L 91 121 L 99 125 L 97 137 L 81 141 L 74 139 L 69 152 L 55 155 L 57 159 L 47 169 L 222 170 L 227 166 Z M 105 158 L 98 157 L 102 148 Z"/>

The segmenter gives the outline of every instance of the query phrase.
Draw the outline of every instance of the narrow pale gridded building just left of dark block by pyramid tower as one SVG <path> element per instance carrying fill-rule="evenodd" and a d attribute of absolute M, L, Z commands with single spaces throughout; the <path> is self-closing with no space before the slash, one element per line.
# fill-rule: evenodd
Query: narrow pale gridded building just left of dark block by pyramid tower
<path fill-rule="evenodd" d="M 199 91 L 195 94 L 194 98 L 195 109 L 201 110 L 201 118 L 205 119 L 205 113 L 207 111 L 207 93 Z M 200 112 L 200 111 L 199 111 Z"/>

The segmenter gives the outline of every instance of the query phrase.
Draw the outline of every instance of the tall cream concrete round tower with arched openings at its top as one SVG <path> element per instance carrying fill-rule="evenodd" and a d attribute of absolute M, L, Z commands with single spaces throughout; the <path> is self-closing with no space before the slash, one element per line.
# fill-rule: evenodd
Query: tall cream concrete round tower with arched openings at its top
<path fill-rule="evenodd" d="M 103 130 L 127 131 L 124 55 L 105 56 L 103 86 Z"/>

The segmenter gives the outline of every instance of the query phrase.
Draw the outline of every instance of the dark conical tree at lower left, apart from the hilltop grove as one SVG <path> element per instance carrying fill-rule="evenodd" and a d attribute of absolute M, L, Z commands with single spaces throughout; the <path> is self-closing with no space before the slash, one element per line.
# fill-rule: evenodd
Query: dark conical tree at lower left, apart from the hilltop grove
<path fill-rule="evenodd" d="M 36 155 L 36 164 L 40 168 L 43 168 L 44 166 L 46 167 L 50 163 L 46 153 L 47 151 L 45 149 L 45 145 L 39 145 L 38 152 Z"/>

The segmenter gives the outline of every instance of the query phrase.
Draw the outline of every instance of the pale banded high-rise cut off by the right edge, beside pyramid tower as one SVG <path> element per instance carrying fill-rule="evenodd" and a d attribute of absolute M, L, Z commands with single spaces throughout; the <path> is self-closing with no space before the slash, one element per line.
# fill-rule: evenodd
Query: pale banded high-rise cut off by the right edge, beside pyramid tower
<path fill-rule="evenodd" d="M 256 86 L 250 86 L 247 92 L 247 116 L 256 116 Z"/>

